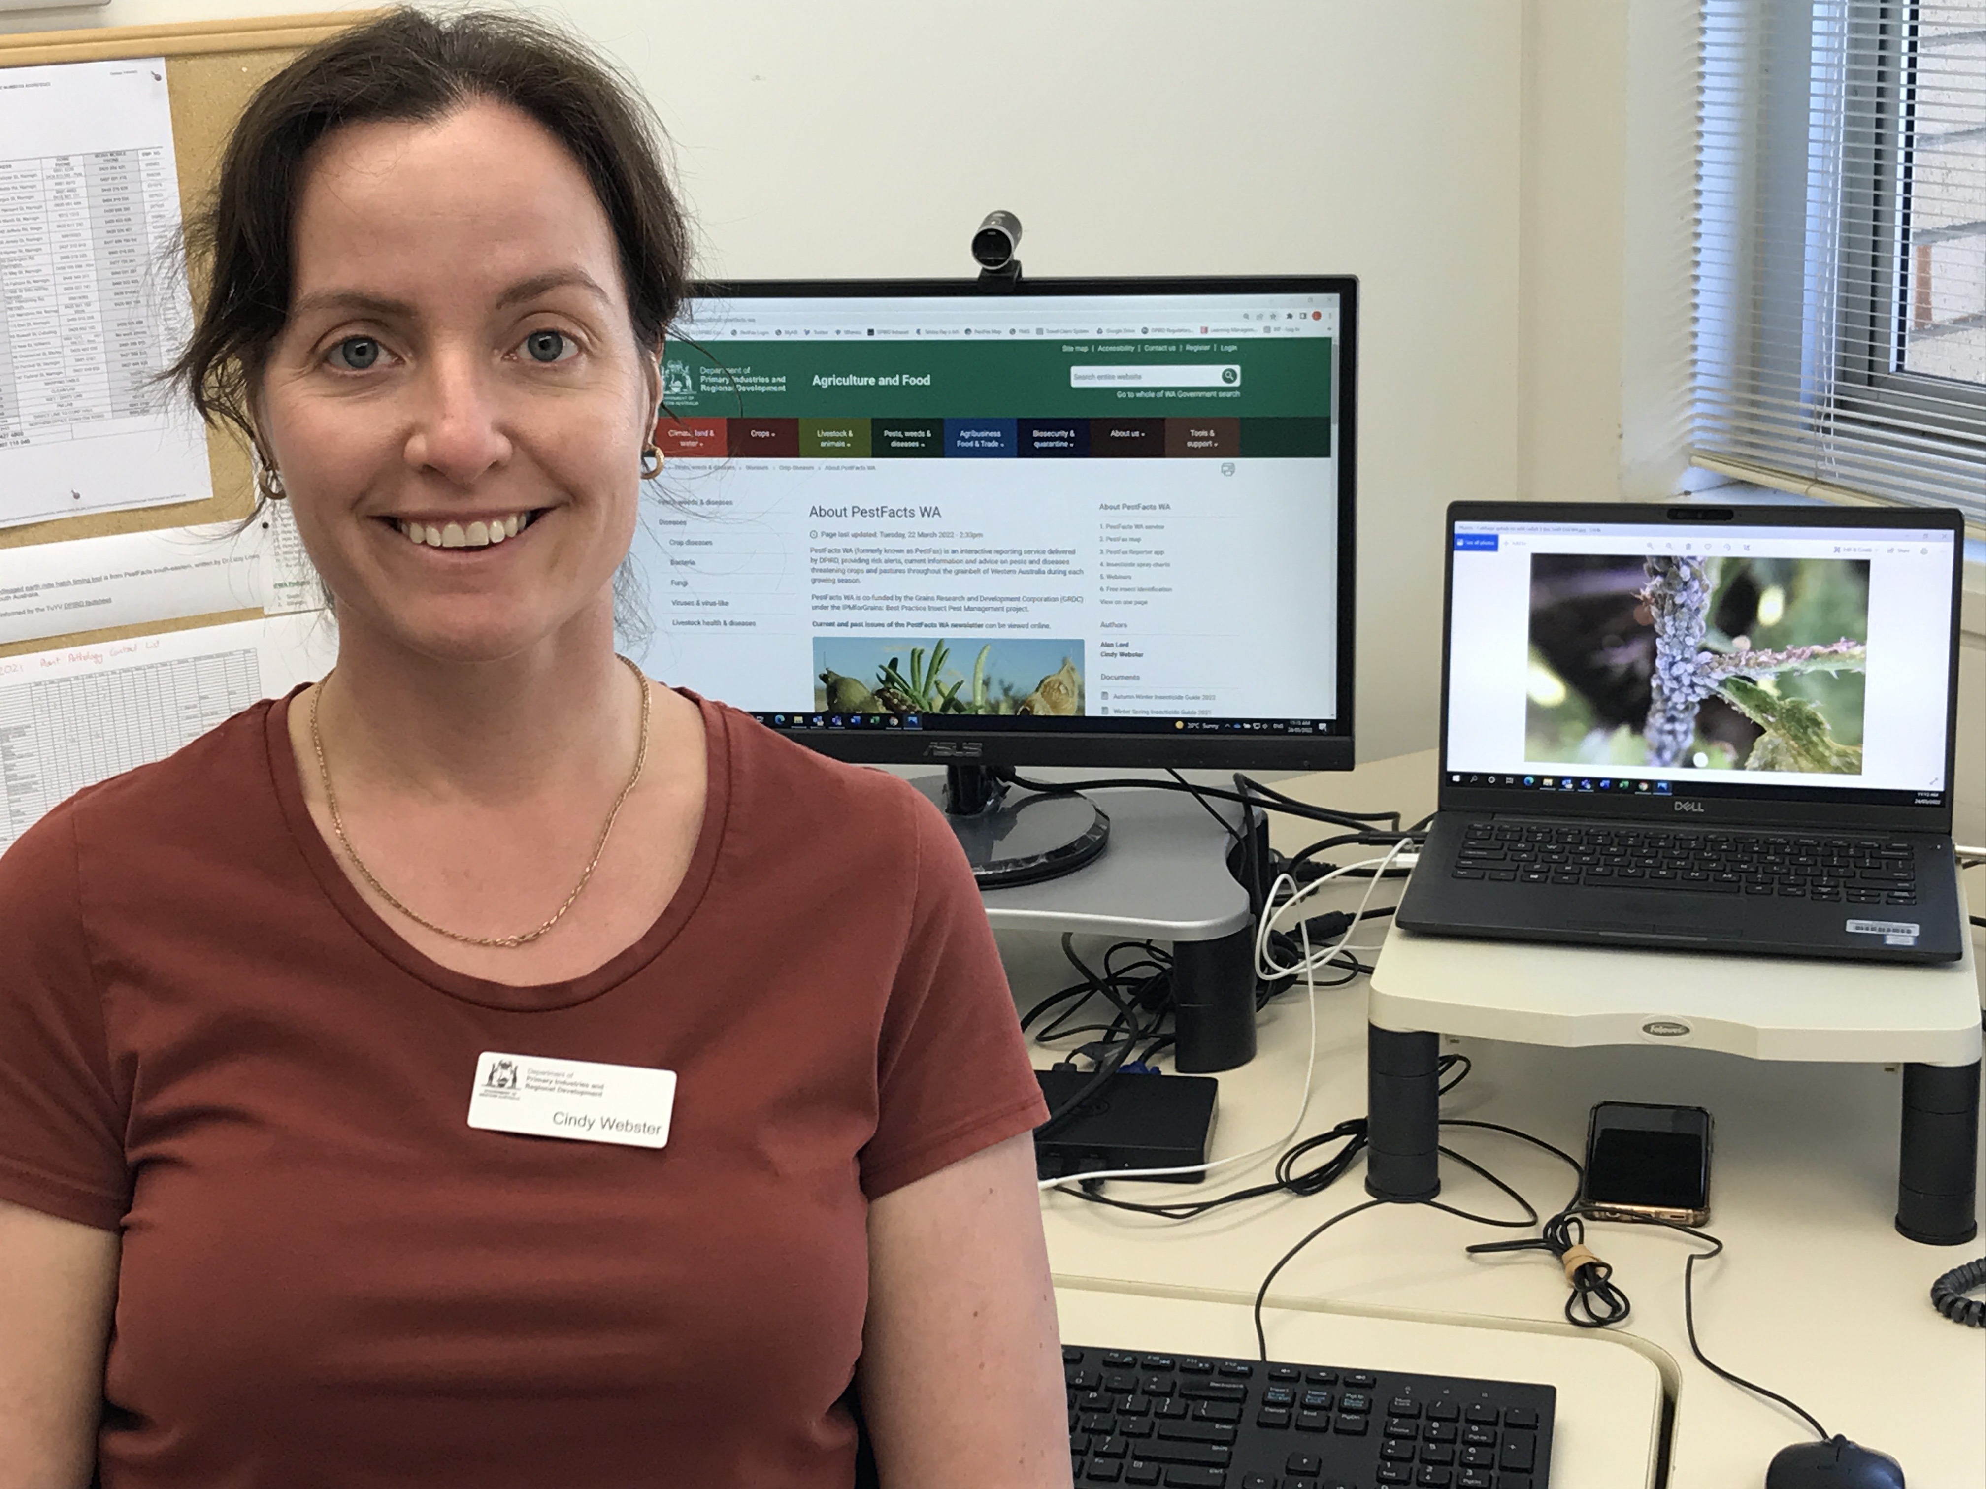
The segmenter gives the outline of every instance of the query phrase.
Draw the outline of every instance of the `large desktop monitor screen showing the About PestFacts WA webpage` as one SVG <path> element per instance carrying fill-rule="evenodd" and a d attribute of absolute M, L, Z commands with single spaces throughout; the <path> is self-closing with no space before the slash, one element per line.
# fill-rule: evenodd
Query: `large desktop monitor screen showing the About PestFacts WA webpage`
<path fill-rule="evenodd" d="M 645 661 L 842 758 L 1350 766 L 1354 292 L 705 286 Z"/>

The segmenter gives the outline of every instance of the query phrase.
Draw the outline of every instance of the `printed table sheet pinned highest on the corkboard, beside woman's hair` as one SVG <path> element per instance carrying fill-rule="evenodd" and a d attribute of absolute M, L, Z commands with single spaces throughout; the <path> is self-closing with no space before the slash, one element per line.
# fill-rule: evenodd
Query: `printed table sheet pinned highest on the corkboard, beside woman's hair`
<path fill-rule="evenodd" d="M 165 60 L 0 69 L 0 526 L 213 494 Z"/>

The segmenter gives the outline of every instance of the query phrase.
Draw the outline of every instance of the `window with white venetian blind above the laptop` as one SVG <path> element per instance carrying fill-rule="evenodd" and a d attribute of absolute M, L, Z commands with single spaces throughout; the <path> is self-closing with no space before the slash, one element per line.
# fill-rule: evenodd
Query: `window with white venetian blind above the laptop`
<path fill-rule="evenodd" d="M 1986 0 L 1702 0 L 1696 465 L 1986 524 Z"/>

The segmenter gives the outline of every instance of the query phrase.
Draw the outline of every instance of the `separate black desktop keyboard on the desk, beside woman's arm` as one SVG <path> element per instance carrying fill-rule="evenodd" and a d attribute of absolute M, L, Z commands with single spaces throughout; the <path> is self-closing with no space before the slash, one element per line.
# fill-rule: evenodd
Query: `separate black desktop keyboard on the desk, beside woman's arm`
<path fill-rule="evenodd" d="M 1063 1348 L 1076 1485 L 1545 1489 L 1551 1386 Z"/>

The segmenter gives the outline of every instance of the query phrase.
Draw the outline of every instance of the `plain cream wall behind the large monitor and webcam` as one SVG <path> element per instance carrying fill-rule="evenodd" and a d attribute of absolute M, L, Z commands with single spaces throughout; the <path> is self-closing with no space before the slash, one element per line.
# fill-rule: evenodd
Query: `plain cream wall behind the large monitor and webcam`
<path fill-rule="evenodd" d="M 1033 274 L 1358 274 L 1358 743 L 1434 743 L 1442 510 L 1517 492 L 1519 0 L 562 10 L 655 99 L 711 272 L 961 274 L 1007 206 Z M 1271 600 L 1265 623 L 1317 621 Z"/>

